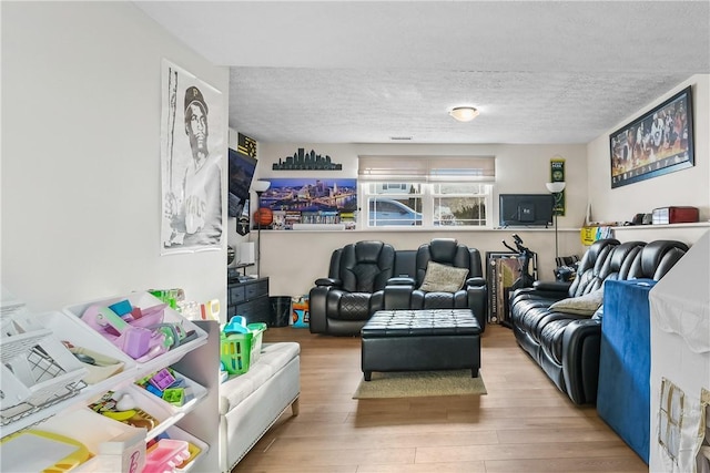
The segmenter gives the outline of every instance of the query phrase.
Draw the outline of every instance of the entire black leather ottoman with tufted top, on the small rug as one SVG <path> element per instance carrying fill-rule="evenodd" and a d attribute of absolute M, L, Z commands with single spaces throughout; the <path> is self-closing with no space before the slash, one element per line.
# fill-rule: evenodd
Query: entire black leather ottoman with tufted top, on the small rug
<path fill-rule="evenodd" d="M 361 330 L 365 381 L 373 371 L 480 368 L 480 325 L 469 309 L 379 310 Z"/>

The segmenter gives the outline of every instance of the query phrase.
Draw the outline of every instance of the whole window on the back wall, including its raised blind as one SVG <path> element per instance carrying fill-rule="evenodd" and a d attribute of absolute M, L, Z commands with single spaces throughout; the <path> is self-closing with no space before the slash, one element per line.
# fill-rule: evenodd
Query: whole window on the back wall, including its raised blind
<path fill-rule="evenodd" d="M 361 156 L 365 227 L 485 227 L 494 157 Z"/>

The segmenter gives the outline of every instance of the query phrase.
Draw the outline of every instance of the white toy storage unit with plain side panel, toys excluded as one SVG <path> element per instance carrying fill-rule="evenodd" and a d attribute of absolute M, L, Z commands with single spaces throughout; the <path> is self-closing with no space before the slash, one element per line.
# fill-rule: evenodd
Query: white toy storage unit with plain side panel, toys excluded
<path fill-rule="evenodd" d="M 158 299 L 146 292 L 132 294 L 125 298 L 143 309 L 146 306 L 160 304 Z M 34 383 L 34 385 L 30 385 L 29 391 L 14 394 L 29 399 L 31 402 L 21 402 L 14 405 L 16 403 L 11 400 L 6 401 L 6 393 L 12 394 L 17 387 L 8 383 L 6 377 L 0 381 L 2 395 L 6 397 L 1 405 L 0 436 L 3 443 L 0 445 L 0 457 L 10 457 L 8 454 L 11 450 L 9 445 L 20 445 L 17 440 L 22 435 L 27 436 L 27 433 L 21 431 L 31 428 L 38 431 L 53 432 L 84 444 L 94 456 L 79 465 L 75 470 L 78 472 L 130 471 L 131 462 L 135 461 L 134 457 L 131 457 L 133 449 L 136 445 L 139 451 L 141 448 L 144 449 L 148 440 L 165 432 L 171 439 L 187 440 L 201 449 L 200 455 L 185 470 L 216 471 L 219 372 L 215 366 L 219 360 L 219 325 L 213 321 L 190 321 L 183 319 L 179 312 L 166 308 L 164 321 L 182 323 L 186 332 L 194 332 L 192 339 L 153 359 L 136 362 L 79 317 L 92 305 L 104 302 L 106 301 L 89 302 L 70 307 L 61 312 L 45 315 L 28 315 L 22 311 L 12 316 L 2 315 L 2 319 L 0 319 L 2 322 L 2 342 L 0 345 L 2 368 L 9 367 L 10 376 L 8 379 L 16 378 L 17 374 L 20 384 Z M 60 364 L 65 363 L 65 367 L 62 367 L 64 369 L 53 377 L 49 377 L 49 383 L 52 384 L 49 387 L 50 390 L 61 392 L 63 397 L 44 395 L 40 399 L 37 393 L 30 391 L 43 388 L 48 380 L 36 382 L 34 380 L 28 381 L 27 377 L 20 377 L 21 368 L 24 366 L 23 356 L 18 356 L 14 351 L 22 349 L 19 342 L 24 339 L 27 339 L 24 346 L 29 347 L 27 349 L 31 349 L 39 342 L 38 337 L 48 336 L 47 340 L 50 340 L 51 343 L 50 341 L 42 342 L 40 353 L 49 351 L 47 347 L 52 346 L 53 348 L 53 345 L 57 343 L 63 349 L 62 342 L 69 342 L 73 347 L 81 347 L 90 352 L 119 360 L 123 363 L 122 371 L 92 384 L 79 381 L 77 385 L 77 379 L 87 379 L 85 366 L 83 363 L 77 364 L 77 360 L 70 354 L 70 360 L 60 362 Z M 11 351 L 10 348 L 13 348 L 14 351 Z M 69 353 L 69 351 L 64 351 Z M 14 364 L 9 360 L 14 360 Z M 165 367 L 174 368 L 176 373 L 183 376 L 186 383 L 192 385 L 194 399 L 180 408 L 164 402 L 134 384 L 134 381 Z M 77 373 L 80 376 L 77 377 Z M 3 371 L 3 374 L 8 373 Z M 70 382 L 69 388 L 64 385 L 64 378 L 68 374 L 70 376 L 70 379 L 67 380 Z M 20 388 L 22 387 L 20 385 Z M 87 408 L 106 391 L 130 393 L 140 409 L 150 412 L 160 422 L 150 430 L 136 429 Z M 38 399 L 41 402 L 34 402 Z M 10 405 L 11 408 L 8 409 Z M 20 436 L 11 436 L 14 433 L 20 433 Z M 2 460 L 3 465 L 0 470 L 10 471 L 7 469 L 7 461 L 9 460 Z"/>

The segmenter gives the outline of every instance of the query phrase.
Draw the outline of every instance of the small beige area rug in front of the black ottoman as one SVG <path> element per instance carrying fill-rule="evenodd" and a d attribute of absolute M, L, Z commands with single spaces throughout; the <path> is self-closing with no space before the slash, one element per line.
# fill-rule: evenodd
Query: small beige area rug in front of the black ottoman
<path fill-rule="evenodd" d="M 373 372 L 371 381 L 359 381 L 353 399 L 466 394 L 486 394 L 480 373 L 478 378 L 471 378 L 470 370 Z"/>

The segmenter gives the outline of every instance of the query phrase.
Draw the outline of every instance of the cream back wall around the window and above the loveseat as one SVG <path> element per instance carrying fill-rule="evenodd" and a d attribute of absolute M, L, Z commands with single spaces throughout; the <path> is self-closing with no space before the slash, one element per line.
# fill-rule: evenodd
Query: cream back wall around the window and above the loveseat
<path fill-rule="evenodd" d="M 298 147 L 329 155 L 343 164 L 339 172 L 273 171 L 278 158 L 291 156 Z M 494 223 L 498 222 L 497 195 L 499 193 L 547 193 L 545 183 L 550 179 L 550 158 L 566 158 L 567 215 L 560 217 L 560 255 L 581 255 L 584 247 L 579 227 L 587 208 L 587 169 L 585 145 L 417 145 L 417 144 L 273 144 L 260 143 L 256 178 L 273 177 L 357 177 L 358 155 L 481 155 L 496 156 L 496 195 L 494 196 Z M 526 245 L 537 251 L 541 279 L 554 278 L 555 230 L 496 230 L 496 229 L 437 229 L 437 230 L 353 230 L 353 232 L 272 232 L 262 230 L 262 276 L 270 277 L 274 296 L 307 294 L 318 277 L 327 276 L 333 249 L 346 243 L 362 239 L 379 239 L 396 249 L 416 249 L 434 237 L 455 237 L 486 251 L 504 251 L 500 243 L 518 233 Z M 254 235 L 255 237 L 255 235 Z"/>

